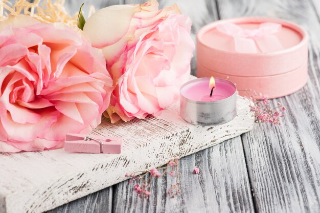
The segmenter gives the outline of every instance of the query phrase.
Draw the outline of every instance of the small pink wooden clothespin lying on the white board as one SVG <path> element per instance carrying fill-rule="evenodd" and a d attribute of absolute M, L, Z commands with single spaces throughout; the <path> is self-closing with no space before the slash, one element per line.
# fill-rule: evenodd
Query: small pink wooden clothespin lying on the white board
<path fill-rule="evenodd" d="M 121 137 L 67 134 L 64 143 L 64 151 L 73 153 L 120 154 L 121 149 Z"/>

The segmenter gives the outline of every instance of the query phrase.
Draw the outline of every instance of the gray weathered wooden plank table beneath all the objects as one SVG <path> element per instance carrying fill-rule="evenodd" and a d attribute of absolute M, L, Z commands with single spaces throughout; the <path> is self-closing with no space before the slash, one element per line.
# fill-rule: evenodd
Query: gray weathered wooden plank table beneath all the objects
<path fill-rule="evenodd" d="M 76 12 L 80 2 L 66 0 L 67 9 Z M 96 8 L 141 2 L 85 1 Z M 174 2 L 192 18 L 194 38 L 203 25 L 237 16 L 278 17 L 301 25 L 310 35 L 307 85 L 271 101 L 287 106 L 283 125 L 257 124 L 247 134 L 182 158 L 182 193 L 174 199 L 167 195 L 171 177 L 154 180 L 148 200 L 139 199 L 125 181 L 50 212 L 320 212 L 320 1 L 162 0 L 160 5 Z M 191 173 L 194 166 L 199 175 Z"/>

